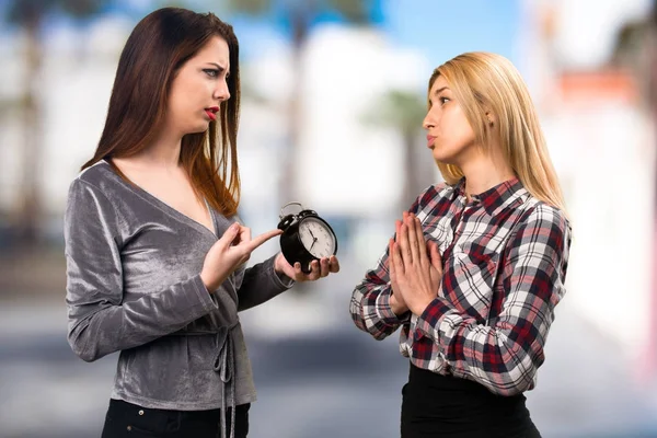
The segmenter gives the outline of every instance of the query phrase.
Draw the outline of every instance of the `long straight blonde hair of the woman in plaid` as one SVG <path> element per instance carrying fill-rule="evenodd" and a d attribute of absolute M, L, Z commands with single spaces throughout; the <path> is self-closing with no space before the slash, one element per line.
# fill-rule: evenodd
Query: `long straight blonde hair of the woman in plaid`
<path fill-rule="evenodd" d="M 450 84 L 477 142 L 484 148 L 494 142 L 500 145 L 504 158 L 525 188 L 565 214 L 537 111 L 516 67 L 500 55 L 466 53 L 434 70 L 429 91 L 439 76 Z M 494 115 L 496 129 L 488 129 L 486 113 Z M 457 165 L 438 162 L 438 168 L 448 184 L 463 177 Z"/>

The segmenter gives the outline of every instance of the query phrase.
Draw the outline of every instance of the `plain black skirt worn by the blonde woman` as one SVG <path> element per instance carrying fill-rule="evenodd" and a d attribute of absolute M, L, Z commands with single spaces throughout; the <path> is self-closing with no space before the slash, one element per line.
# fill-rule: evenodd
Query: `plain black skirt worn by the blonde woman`
<path fill-rule="evenodd" d="M 411 364 L 402 390 L 402 438 L 540 438 L 525 401 Z"/>

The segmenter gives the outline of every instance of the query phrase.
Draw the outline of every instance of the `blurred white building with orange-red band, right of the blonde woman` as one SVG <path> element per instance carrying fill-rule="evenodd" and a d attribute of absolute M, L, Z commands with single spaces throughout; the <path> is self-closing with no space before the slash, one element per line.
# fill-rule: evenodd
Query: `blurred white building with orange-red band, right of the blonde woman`
<path fill-rule="evenodd" d="M 574 227 L 566 300 L 614 358 L 641 365 L 631 371 L 638 378 L 654 341 L 657 293 L 655 126 L 638 78 L 609 61 L 621 26 L 650 2 L 523 5 L 522 66 Z"/>

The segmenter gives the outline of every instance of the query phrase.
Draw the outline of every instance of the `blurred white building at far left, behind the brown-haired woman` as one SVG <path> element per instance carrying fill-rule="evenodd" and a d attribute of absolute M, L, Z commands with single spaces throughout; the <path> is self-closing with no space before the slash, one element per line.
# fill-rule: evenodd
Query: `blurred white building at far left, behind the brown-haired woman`
<path fill-rule="evenodd" d="M 44 38 L 44 58 L 36 84 L 41 153 L 37 165 L 42 227 L 47 235 L 61 234 L 61 215 L 68 185 L 93 154 L 105 122 L 116 64 L 132 23 L 105 15 L 89 28 L 55 26 Z M 25 64 L 22 33 L 4 35 L 0 93 L 10 102 L 22 96 Z M 0 211 L 13 211 L 20 203 L 24 153 L 24 127 L 20 106 L 5 108 L 0 118 Z"/>

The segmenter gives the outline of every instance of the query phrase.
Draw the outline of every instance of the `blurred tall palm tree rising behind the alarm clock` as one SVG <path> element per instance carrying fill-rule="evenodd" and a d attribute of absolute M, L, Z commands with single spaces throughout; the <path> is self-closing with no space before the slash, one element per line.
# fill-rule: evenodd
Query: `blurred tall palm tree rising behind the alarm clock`
<path fill-rule="evenodd" d="M 371 24 L 370 10 L 372 1 L 367 0 L 228 0 L 228 7 L 234 12 L 253 16 L 263 16 L 275 8 L 283 10 L 284 21 L 290 28 L 292 49 L 292 90 L 288 101 L 289 142 L 286 151 L 279 182 L 279 200 L 285 204 L 297 199 L 298 182 L 295 172 L 295 157 L 298 154 L 301 125 L 301 78 L 303 77 L 300 62 L 303 46 L 310 35 L 312 25 L 325 13 L 336 12 L 348 23 L 357 25 Z"/>

